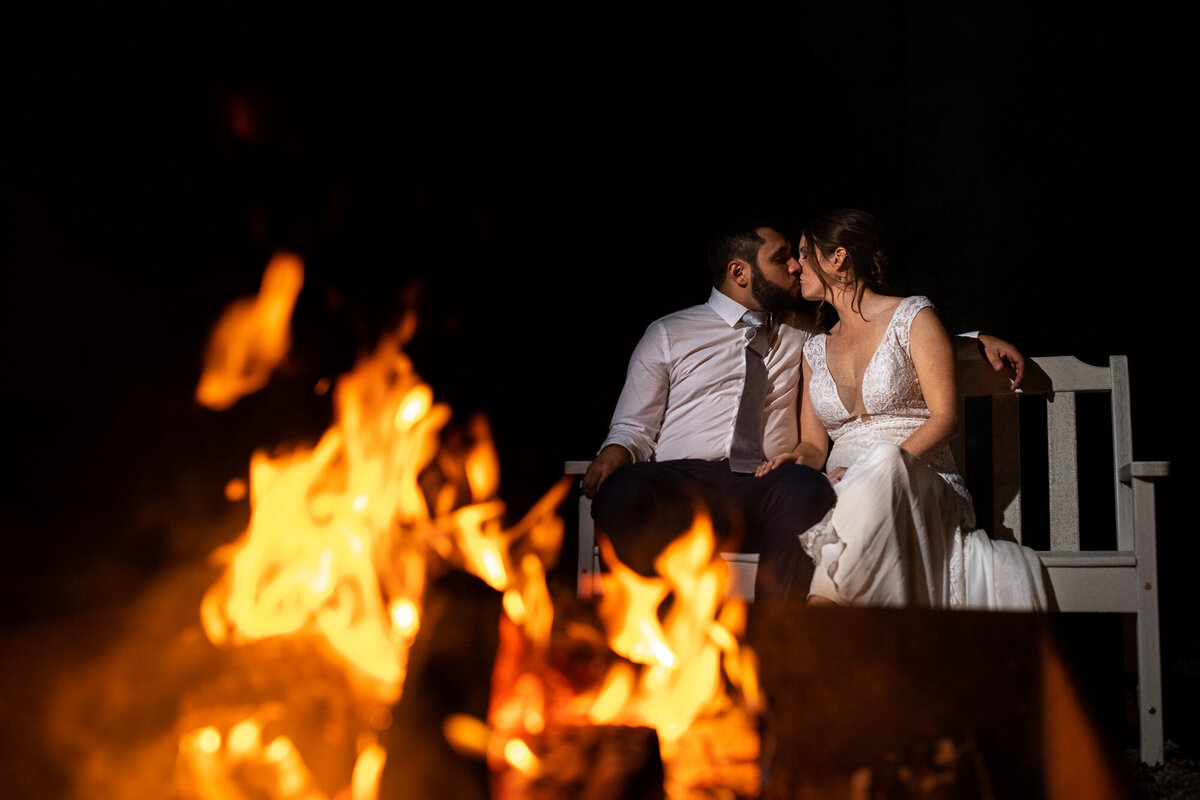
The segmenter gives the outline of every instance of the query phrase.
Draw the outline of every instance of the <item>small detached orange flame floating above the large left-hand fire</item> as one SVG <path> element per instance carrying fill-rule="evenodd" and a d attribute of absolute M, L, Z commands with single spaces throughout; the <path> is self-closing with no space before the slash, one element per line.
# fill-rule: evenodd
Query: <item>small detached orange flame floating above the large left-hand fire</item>
<path fill-rule="evenodd" d="M 258 296 L 230 303 L 209 337 L 197 401 L 223 410 L 266 385 L 292 345 L 289 321 L 302 284 L 301 260 L 280 253 L 268 263 Z"/>

